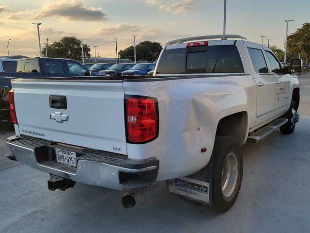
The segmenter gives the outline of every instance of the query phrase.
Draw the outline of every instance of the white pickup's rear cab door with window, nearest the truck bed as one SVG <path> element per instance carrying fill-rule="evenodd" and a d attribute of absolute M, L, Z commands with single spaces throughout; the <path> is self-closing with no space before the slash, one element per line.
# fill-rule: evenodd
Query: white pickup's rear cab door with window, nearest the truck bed
<path fill-rule="evenodd" d="M 255 126 L 259 126 L 277 115 L 275 111 L 277 78 L 269 74 L 262 46 L 251 43 L 247 43 L 246 45 L 256 81 L 257 101 Z"/>

